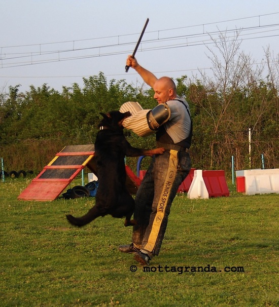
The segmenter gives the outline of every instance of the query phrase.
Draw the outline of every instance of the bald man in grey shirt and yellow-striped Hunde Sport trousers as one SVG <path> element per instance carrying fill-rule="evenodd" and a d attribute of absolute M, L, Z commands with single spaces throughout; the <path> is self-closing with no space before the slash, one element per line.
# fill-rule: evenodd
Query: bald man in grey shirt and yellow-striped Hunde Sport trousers
<path fill-rule="evenodd" d="M 171 203 L 190 172 L 188 149 L 191 145 L 192 121 L 188 103 L 177 96 L 176 85 L 170 78 L 157 79 L 132 56 L 128 56 L 126 64 L 154 89 L 158 104 L 166 105 L 165 113 L 161 108 L 158 111 L 157 106 L 150 111 L 151 114 L 147 114 L 148 122 L 151 122 L 150 115 L 159 123 L 155 128 L 156 142 L 158 147 L 165 148 L 165 152 L 152 160 L 137 190 L 134 210 L 137 224 L 133 226 L 132 243 L 119 246 L 121 252 L 133 253 L 136 261 L 148 265 L 159 254 Z M 166 114 L 169 111 L 170 116 Z"/>

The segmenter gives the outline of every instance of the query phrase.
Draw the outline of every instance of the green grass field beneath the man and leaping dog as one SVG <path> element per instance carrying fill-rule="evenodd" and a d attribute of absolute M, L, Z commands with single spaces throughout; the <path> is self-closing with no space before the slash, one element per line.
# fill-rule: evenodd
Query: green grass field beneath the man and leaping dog
<path fill-rule="evenodd" d="M 94 198 L 18 201 L 29 182 L 0 182 L 1 306 L 279 306 L 278 194 L 178 195 L 147 269 L 124 219 L 72 227 Z"/>

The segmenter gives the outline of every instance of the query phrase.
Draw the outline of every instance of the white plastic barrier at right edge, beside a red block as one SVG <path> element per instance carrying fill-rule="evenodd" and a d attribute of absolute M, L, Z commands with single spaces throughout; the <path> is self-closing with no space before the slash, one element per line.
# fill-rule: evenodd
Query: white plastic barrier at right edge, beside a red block
<path fill-rule="evenodd" d="M 279 193 L 279 169 L 245 170 L 247 195 Z"/>

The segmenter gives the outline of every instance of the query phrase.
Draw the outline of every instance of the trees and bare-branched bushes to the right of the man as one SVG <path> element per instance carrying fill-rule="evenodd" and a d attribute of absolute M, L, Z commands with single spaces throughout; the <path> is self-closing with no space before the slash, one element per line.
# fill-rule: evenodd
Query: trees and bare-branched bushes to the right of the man
<path fill-rule="evenodd" d="M 239 33 L 234 39 L 220 34 L 208 49 L 212 76 L 179 79 L 190 103 L 195 127 L 192 151 L 201 169 L 278 167 L 278 56 L 265 51 L 266 64 L 255 64 L 240 52 Z M 265 76 L 264 76 L 265 75 Z M 252 151 L 249 152 L 248 130 Z M 250 163 L 251 161 L 251 163 Z"/>

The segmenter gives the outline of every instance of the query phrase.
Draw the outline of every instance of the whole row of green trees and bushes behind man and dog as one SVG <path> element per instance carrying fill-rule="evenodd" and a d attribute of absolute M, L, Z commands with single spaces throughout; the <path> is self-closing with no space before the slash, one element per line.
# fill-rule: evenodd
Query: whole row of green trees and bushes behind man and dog
<path fill-rule="evenodd" d="M 176 80 L 178 93 L 189 101 L 194 123 L 193 167 L 229 172 L 234 156 L 236 169 L 260 168 L 263 153 L 265 167 L 277 168 L 278 55 L 267 48 L 265 63 L 256 65 L 240 52 L 238 33 L 233 40 L 221 33 L 213 42 L 214 49 L 208 49 L 211 76 L 200 72 L 199 78 Z M 6 168 L 39 171 L 65 145 L 94 143 L 99 112 L 118 110 L 126 101 L 138 101 L 144 108 L 156 105 L 153 90 L 124 80 L 108 83 L 101 72 L 83 82 L 83 87 L 73 84 L 62 92 L 44 84 L 30 86 L 25 93 L 18 85 L 0 94 L 0 155 Z M 154 146 L 152 136 L 127 135 L 134 146 Z"/>

